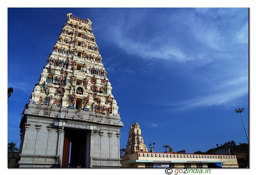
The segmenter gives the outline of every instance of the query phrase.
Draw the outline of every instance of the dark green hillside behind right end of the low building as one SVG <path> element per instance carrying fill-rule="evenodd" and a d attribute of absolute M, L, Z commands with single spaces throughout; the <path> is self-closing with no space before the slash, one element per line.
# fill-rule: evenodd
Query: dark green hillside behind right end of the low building
<path fill-rule="evenodd" d="M 229 146 L 219 146 L 217 148 L 209 149 L 205 154 L 215 154 L 216 150 L 228 149 L 230 150 L 231 155 L 237 156 L 237 161 L 239 168 L 249 167 L 249 144 L 241 143 L 240 145 L 229 145 Z"/>

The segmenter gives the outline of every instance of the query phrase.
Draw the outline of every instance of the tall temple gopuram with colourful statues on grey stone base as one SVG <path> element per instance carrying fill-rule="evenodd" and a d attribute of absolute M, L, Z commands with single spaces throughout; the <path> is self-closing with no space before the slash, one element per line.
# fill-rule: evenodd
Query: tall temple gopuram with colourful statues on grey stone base
<path fill-rule="evenodd" d="M 67 14 L 20 121 L 19 167 L 121 167 L 117 101 L 92 22 Z"/>

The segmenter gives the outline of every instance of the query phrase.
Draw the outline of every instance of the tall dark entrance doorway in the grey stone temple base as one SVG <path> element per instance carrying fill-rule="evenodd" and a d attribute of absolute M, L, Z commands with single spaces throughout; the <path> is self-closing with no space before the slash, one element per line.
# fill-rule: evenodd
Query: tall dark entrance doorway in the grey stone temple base
<path fill-rule="evenodd" d="M 89 140 L 87 130 L 65 128 L 62 166 L 88 167 L 86 164 L 90 153 L 87 150 L 90 144 L 87 140 Z"/>

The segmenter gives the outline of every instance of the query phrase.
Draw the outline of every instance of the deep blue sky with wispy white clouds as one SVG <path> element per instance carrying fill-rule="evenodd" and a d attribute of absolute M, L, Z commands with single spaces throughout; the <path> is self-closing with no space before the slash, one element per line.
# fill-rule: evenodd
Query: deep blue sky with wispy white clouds
<path fill-rule="evenodd" d="M 248 143 L 248 8 L 8 8 L 8 142 L 66 14 L 89 18 L 108 72 L 125 148 L 132 121 L 148 147 L 203 152 Z"/>

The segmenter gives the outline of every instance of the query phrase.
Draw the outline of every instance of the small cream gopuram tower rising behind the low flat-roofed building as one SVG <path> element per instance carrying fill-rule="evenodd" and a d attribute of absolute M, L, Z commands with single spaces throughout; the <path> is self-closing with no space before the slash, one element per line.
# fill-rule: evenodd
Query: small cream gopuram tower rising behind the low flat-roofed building
<path fill-rule="evenodd" d="M 137 122 L 132 124 L 130 127 L 125 155 L 133 152 L 148 152 L 148 148 L 144 143 L 141 135 L 141 129 L 139 128 L 139 124 Z"/>

